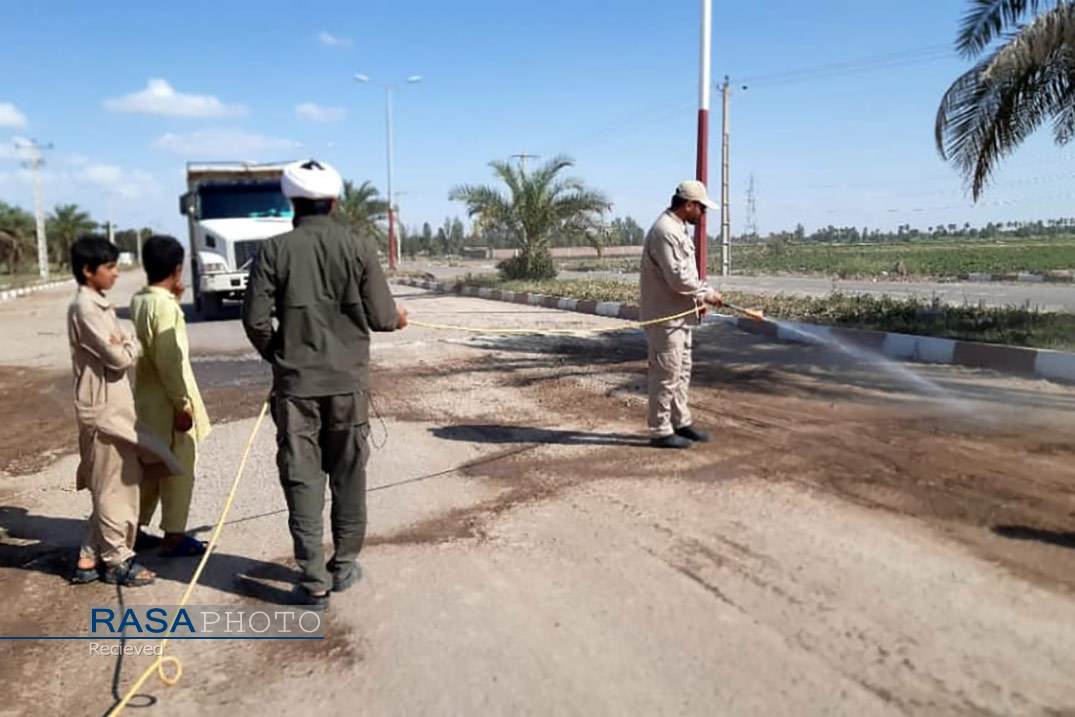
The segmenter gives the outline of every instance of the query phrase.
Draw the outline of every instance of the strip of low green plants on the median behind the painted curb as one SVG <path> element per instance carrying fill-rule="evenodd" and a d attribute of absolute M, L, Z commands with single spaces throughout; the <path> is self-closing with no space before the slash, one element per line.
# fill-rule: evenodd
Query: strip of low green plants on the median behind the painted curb
<path fill-rule="evenodd" d="M 530 291 L 547 296 L 636 304 L 634 283 L 598 279 L 548 282 L 501 282 L 496 275 L 468 276 L 463 283 Z M 1019 306 L 983 309 L 976 305 L 946 306 L 917 299 L 848 296 L 793 297 L 723 292 L 741 306 L 760 309 L 777 319 L 844 326 L 874 331 L 895 331 L 1010 346 L 1075 350 L 1075 315 L 1038 312 Z"/>

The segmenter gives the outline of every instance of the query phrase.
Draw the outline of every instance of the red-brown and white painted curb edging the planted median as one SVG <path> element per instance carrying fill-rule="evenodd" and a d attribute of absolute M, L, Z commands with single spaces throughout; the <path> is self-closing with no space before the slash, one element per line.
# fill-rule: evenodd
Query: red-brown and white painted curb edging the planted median
<path fill-rule="evenodd" d="M 508 301 L 531 306 L 545 306 L 582 314 L 610 316 L 629 321 L 639 320 L 639 307 L 614 301 L 578 301 L 542 293 L 504 291 L 463 284 L 441 284 L 415 278 L 396 278 L 397 284 L 428 289 L 440 293 L 458 293 L 464 297 Z M 1075 353 L 1054 352 L 1045 348 L 1023 348 L 984 344 L 975 341 L 956 341 L 936 336 L 918 336 L 908 333 L 845 329 L 818 324 L 756 321 L 737 316 L 713 315 L 713 320 L 731 324 L 743 331 L 777 341 L 811 344 L 833 338 L 852 348 L 877 353 L 888 358 L 919 363 L 948 363 L 974 369 L 990 369 L 1002 373 L 1036 376 L 1050 381 L 1075 384 Z"/>

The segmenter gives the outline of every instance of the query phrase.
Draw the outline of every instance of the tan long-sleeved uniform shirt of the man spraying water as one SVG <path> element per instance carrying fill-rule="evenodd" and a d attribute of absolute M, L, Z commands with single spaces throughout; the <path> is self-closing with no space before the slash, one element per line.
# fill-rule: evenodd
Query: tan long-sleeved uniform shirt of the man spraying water
<path fill-rule="evenodd" d="M 698 277 L 694 243 L 687 233 L 687 224 L 671 210 L 665 210 L 646 234 L 639 290 L 643 321 L 689 311 L 710 293 L 710 287 Z M 697 322 L 693 316 L 686 316 L 662 326 L 672 328 Z"/>

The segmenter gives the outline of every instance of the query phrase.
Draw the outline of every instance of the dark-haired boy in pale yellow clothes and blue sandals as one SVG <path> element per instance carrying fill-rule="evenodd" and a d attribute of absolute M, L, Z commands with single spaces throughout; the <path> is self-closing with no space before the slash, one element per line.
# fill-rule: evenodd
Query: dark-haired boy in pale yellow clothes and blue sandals
<path fill-rule="evenodd" d="M 134 406 L 145 424 L 180 459 L 183 473 L 149 477 L 142 484 L 139 525 L 147 526 L 160 503 L 164 531 L 161 556 L 199 556 L 205 544 L 186 534 L 195 484 L 197 444 L 210 433 L 209 415 L 190 368 L 183 296 L 183 245 L 172 236 L 150 236 L 142 246 L 148 286 L 131 299 L 131 319 L 142 344 L 134 381 Z M 140 531 L 141 545 L 156 540 Z"/>

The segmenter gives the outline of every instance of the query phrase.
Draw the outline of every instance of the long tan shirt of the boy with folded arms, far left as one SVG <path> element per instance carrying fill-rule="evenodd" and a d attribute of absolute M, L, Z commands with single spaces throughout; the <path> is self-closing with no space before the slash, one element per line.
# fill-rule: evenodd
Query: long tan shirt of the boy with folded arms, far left
<path fill-rule="evenodd" d="M 113 336 L 119 342 L 113 343 Z M 127 371 L 138 357 L 138 340 L 119 324 L 115 309 L 102 293 L 78 287 L 68 307 L 68 341 L 80 433 L 100 432 L 126 441 L 140 448 L 144 463 L 163 462 L 169 472 L 181 472 L 182 465 L 168 446 L 137 425 Z M 86 467 L 85 460 L 78 467 L 80 489 L 88 485 Z"/>

